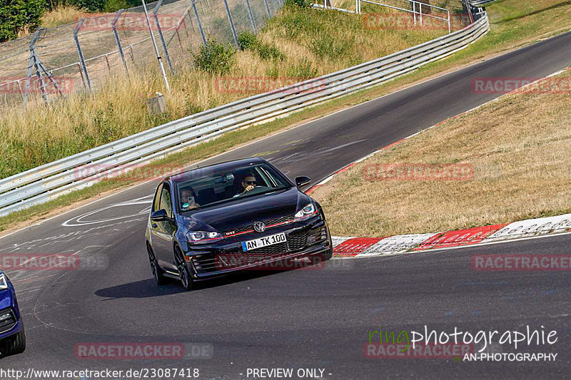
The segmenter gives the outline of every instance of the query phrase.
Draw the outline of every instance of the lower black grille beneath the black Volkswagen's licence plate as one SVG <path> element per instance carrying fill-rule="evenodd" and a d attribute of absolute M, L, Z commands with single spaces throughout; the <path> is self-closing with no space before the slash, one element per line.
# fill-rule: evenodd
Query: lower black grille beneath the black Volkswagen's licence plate
<path fill-rule="evenodd" d="M 308 237 L 305 233 L 289 235 L 287 241 L 283 243 L 268 245 L 246 252 L 243 252 L 241 247 L 237 247 L 219 254 L 194 255 L 191 257 L 191 262 L 198 274 L 218 272 L 244 265 L 256 265 L 266 260 L 277 259 L 290 255 L 292 252 L 303 250 L 307 239 Z"/>

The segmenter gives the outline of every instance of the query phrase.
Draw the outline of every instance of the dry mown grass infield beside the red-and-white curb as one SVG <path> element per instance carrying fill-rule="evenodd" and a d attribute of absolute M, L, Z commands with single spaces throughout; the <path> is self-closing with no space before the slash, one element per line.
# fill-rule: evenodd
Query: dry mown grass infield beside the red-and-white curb
<path fill-rule="evenodd" d="M 557 78 L 571 81 L 571 71 Z M 435 232 L 571 212 L 569 93 L 510 94 L 355 165 L 315 192 L 334 235 Z M 473 166 L 472 180 L 365 180 L 368 165 Z"/>

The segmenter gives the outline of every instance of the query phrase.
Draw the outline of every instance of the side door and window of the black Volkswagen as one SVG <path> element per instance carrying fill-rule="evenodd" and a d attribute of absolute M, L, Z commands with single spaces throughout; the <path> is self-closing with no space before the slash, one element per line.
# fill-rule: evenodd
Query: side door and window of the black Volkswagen
<path fill-rule="evenodd" d="M 151 220 L 151 233 L 153 234 L 153 252 L 158 265 L 165 269 L 176 269 L 173 256 L 173 236 L 176 224 L 173 220 L 173 202 L 171 199 L 171 186 L 162 183 L 157 195 L 158 204 L 153 203 L 153 211 L 165 210 L 168 220 L 154 222 Z"/>

